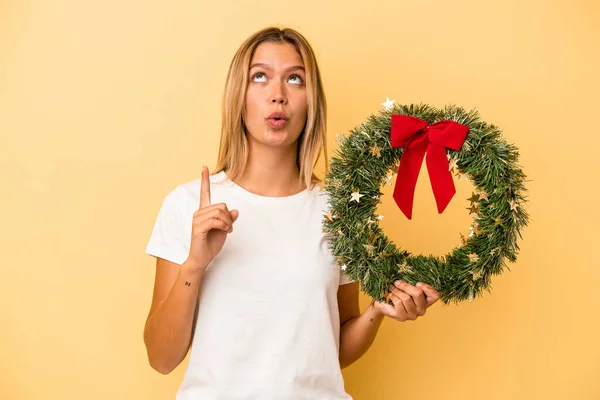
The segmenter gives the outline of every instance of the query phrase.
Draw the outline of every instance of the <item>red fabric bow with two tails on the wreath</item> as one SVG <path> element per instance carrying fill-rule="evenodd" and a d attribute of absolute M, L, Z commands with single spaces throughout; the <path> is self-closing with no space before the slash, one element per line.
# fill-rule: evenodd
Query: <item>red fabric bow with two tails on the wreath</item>
<path fill-rule="evenodd" d="M 415 186 L 425 152 L 438 213 L 441 214 L 450 203 L 456 189 L 448 168 L 445 147 L 460 150 L 468 132 L 469 127 L 454 121 L 444 120 L 429 125 L 422 119 L 392 114 L 392 147 L 404 147 L 394 188 L 394 200 L 408 219 L 412 219 Z"/>

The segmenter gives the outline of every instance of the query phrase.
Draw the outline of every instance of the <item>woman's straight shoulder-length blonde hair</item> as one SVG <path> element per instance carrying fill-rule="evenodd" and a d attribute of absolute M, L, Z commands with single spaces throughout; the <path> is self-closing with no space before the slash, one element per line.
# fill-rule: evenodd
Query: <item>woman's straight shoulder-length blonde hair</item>
<path fill-rule="evenodd" d="M 263 42 L 289 43 L 296 48 L 304 62 L 307 116 L 304 129 L 298 137 L 296 165 L 300 170 L 299 179 L 304 180 L 306 187 L 312 189 L 313 184 L 321 182 L 314 174 L 321 151 L 325 158 L 325 173 L 328 170 L 327 104 L 315 54 L 304 36 L 291 28 L 268 27 L 254 33 L 242 43 L 231 60 L 223 93 L 219 156 L 212 173 L 225 171 L 227 177 L 234 181 L 242 175 L 246 166 L 249 147 L 243 112 L 248 72 L 252 56 L 258 45 Z"/>

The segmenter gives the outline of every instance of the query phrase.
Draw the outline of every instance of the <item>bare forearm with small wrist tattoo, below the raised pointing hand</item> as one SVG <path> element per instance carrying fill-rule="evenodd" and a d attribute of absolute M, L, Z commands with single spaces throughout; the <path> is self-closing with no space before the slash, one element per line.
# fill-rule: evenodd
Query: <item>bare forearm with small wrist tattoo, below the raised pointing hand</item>
<path fill-rule="evenodd" d="M 144 327 L 144 343 L 152 368 L 173 371 L 185 358 L 193 334 L 204 268 L 185 261 L 156 260 L 152 306 Z"/>

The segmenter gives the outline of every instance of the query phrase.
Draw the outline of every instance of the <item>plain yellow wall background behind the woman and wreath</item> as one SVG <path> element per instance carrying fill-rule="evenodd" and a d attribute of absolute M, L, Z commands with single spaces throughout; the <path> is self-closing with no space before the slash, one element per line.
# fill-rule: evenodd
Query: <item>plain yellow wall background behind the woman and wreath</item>
<path fill-rule="evenodd" d="M 145 246 L 164 196 L 214 167 L 227 67 L 271 24 L 314 46 L 330 157 L 386 96 L 453 103 L 501 127 L 530 180 L 511 271 L 472 303 L 386 319 L 348 392 L 600 398 L 599 15 L 593 0 L 3 1 L 0 398 L 175 397 L 187 360 L 167 376 L 146 360 Z M 471 187 L 440 216 L 423 172 L 413 220 L 387 196 L 382 224 L 442 255 L 468 233 Z"/>

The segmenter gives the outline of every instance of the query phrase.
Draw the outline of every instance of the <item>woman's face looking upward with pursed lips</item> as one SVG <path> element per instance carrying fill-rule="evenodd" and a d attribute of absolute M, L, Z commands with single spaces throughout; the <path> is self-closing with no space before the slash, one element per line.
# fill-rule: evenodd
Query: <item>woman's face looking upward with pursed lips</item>
<path fill-rule="evenodd" d="M 306 122 L 302 57 L 289 43 L 263 42 L 249 73 L 244 110 L 248 140 L 278 147 L 293 144 Z"/>

